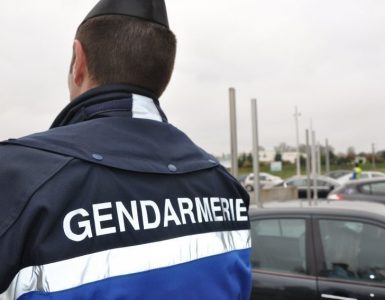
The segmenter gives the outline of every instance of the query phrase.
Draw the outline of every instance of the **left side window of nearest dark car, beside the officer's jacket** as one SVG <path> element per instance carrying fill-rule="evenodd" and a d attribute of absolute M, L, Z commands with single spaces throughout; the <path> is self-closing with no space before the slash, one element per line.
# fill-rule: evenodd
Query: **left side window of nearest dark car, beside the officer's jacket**
<path fill-rule="evenodd" d="M 306 274 L 305 220 L 251 222 L 253 268 Z"/>

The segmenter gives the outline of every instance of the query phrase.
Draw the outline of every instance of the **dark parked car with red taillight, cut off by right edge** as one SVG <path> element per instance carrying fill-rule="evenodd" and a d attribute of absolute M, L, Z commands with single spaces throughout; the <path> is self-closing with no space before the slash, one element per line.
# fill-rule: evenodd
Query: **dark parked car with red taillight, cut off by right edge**
<path fill-rule="evenodd" d="M 385 204 L 385 177 L 348 181 L 331 191 L 328 199 L 365 200 Z"/>

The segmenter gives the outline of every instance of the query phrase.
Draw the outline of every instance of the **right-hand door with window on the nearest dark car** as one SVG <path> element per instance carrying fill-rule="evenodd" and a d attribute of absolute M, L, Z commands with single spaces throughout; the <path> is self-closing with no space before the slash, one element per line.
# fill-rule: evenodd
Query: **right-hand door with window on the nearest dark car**
<path fill-rule="evenodd" d="M 385 299 L 385 226 L 357 218 L 316 217 L 318 299 Z"/>

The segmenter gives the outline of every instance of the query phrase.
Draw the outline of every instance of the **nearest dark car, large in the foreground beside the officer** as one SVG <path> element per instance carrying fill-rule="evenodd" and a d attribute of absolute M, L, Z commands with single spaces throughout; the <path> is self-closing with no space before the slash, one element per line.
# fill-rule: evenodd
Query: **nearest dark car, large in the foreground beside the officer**
<path fill-rule="evenodd" d="M 385 205 L 292 205 L 250 208 L 251 299 L 385 299 Z"/>

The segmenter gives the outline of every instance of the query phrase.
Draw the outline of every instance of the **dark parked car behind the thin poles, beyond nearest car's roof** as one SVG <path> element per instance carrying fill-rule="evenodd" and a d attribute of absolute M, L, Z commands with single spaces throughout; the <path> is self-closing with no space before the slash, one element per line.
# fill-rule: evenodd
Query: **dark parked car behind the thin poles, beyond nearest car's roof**
<path fill-rule="evenodd" d="M 340 186 L 340 184 L 336 180 L 325 176 L 318 176 L 316 179 L 316 184 L 317 184 L 318 198 L 326 198 L 327 195 L 333 189 Z M 294 176 L 283 181 L 282 183 L 276 186 L 277 187 L 295 186 L 298 189 L 298 198 L 307 197 L 308 179 L 306 176 Z M 313 193 L 314 193 L 314 180 L 310 178 L 310 196 L 311 197 L 313 197 Z"/>

